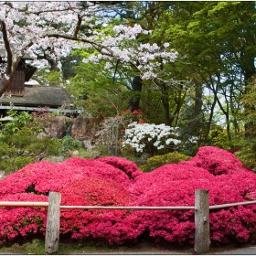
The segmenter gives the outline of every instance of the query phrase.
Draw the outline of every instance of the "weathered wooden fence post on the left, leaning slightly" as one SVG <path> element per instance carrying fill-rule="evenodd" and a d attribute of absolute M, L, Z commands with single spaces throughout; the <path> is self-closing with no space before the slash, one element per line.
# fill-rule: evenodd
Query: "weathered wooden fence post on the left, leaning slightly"
<path fill-rule="evenodd" d="M 48 222 L 47 222 L 46 241 L 45 241 L 46 253 L 53 253 L 59 250 L 60 201 L 61 201 L 60 193 L 49 192 Z"/>

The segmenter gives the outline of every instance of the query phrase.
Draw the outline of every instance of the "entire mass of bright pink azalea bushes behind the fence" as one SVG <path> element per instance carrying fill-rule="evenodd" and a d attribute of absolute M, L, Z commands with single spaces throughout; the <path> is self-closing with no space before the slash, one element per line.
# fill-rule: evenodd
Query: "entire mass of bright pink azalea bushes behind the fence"
<path fill-rule="evenodd" d="M 1 201 L 47 201 L 61 193 L 61 205 L 194 206 L 195 190 L 208 189 L 210 205 L 256 199 L 255 174 L 228 151 L 199 148 L 179 164 L 143 173 L 125 158 L 79 157 L 57 164 L 27 165 L 0 180 Z M 158 240 L 193 243 L 194 210 L 61 209 L 60 234 L 121 244 L 144 232 Z M 45 234 L 47 208 L 0 208 L 0 242 L 34 233 Z M 210 211 L 210 239 L 226 243 L 255 239 L 256 206 Z"/>

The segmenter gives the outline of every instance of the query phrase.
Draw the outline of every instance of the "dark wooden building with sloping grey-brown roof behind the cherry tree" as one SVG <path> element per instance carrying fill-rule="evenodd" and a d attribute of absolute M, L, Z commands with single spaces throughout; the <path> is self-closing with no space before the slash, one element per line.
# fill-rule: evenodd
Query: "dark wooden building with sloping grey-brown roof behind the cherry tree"
<path fill-rule="evenodd" d="M 5 57 L 5 52 L 1 49 L 0 57 Z M 30 59 L 29 56 L 21 59 L 14 80 L 0 97 L 0 115 L 5 116 L 5 112 L 11 108 L 27 112 L 42 111 L 44 108 L 48 112 L 75 113 L 76 111 L 71 108 L 72 101 L 65 88 L 26 84 L 37 70 L 26 63 L 28 59 Z"/>

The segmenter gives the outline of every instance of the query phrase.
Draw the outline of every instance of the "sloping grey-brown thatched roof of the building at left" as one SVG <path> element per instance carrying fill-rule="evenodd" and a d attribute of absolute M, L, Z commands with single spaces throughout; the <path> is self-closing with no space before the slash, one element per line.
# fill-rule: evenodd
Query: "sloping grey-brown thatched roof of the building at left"
<path fill-rule="evenodd" d="M 68 92 L 63 87 L 25 85 L 25 94 L 23 97 L 11 96 L 0 98 L 0 104 L 23 107 L 45 107 L 59 108 L 65 102 L 71 102 Z"/>

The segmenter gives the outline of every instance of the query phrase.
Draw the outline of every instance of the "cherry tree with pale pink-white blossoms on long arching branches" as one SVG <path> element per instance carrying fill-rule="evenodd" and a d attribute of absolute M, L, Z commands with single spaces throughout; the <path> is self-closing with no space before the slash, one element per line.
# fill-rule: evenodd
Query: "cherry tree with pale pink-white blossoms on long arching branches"
<path fill-rule="evenodd" d="M 165 80 L 159 67 L 176 59 L 169 44 L 138 43 L 136 37 L 150 31 L 136 24 L 113 27 L 112 35 L 99 32 L 94 26 L 104 25 L 101 14 L 101 5 L 95 2 L 1 2 L 0 47 L 5 49 L 5 58 L 1 58 L 0 96 L 25 54 L 34 59 L 32 65 L 42 67 L 48 64 L 47 58 L 42 59 L 46 54 L 58 61 L 73 48 L 96 49 L 97 54 L 85 61 L 114 59 L 131 65 L 143 80 Z M 107 62 L 105 68 L 110 69 L 112 63 Z"/>

